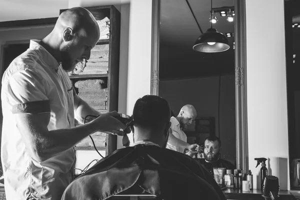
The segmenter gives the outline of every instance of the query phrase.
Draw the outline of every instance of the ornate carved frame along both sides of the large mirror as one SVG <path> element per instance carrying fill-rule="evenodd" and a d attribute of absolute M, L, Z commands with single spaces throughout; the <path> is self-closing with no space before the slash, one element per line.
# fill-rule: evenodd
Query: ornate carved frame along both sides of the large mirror
<path fill-rule="evenodd" d="M 235 126 L 236 166 L 248 171 L 246 113 L 246 19 L 245 0 L 235 0 Z M 158 95 L 160 0 L 152 0 L 151 94 Z"/>

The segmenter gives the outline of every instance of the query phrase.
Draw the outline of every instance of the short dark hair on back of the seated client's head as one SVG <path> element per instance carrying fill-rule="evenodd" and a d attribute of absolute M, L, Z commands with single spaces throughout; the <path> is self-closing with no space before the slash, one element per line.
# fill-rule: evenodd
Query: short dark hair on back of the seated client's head
<path fill-rule="evenodd" d="M 134 125 L 157 128 L 170 121 L 171 110 L 164 98 L 144 95 L 136 100 L 132 115 Z"/>

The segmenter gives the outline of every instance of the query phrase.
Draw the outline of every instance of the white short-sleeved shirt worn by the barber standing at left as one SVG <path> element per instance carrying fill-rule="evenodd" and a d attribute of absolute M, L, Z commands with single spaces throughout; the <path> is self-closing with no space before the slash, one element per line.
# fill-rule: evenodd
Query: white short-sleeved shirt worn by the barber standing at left
<path fill-rule="evenodd" d="M 60 199 L 72 180 L 73 148 L 42 162 L 35 160 L 26 149 L 15 115 L 49 112 L 48 130 L 73 127 L 73 91 L 67 73 L 38 40 L 30 40 L 29 48 L 3 74 L 1 100 L 1 161 L 6 199 Z"/>

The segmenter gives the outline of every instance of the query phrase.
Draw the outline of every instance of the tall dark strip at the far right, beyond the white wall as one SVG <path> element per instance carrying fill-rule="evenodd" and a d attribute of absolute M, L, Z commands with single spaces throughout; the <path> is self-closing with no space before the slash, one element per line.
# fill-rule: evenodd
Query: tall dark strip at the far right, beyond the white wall
<path fill-rule="evenodd" d="M 299 19 L 297 19 L 299 18 Z M 299 20 L 299 21 L 297 21 Z M 300 1 L 284 1 L 289 166 L 300 158 Z M 291 168 L 290 168 L 291 169 Z M 291 175 L 291 173 L 290 173 Z"/>

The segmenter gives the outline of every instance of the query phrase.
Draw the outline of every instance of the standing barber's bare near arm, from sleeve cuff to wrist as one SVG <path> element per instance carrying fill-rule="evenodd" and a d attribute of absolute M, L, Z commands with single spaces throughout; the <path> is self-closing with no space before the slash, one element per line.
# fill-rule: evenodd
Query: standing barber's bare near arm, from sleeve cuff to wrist
<path fill-rule="evenodd" d="M 43 161 L 70 147 L 84 137 L 103 129 L 105 123 L 89 122 L 71 129 L 48 130 L 50 113 L 15 114 L 17 128 L 29 154 Z M 101 119 L 100 119 L 101 120 Z"/>

